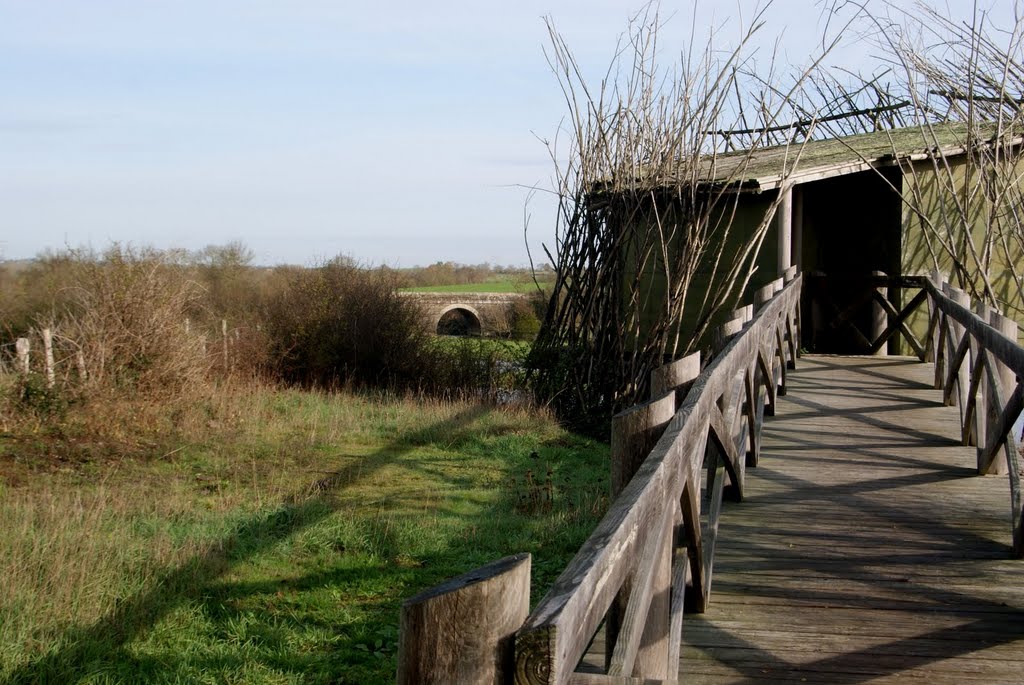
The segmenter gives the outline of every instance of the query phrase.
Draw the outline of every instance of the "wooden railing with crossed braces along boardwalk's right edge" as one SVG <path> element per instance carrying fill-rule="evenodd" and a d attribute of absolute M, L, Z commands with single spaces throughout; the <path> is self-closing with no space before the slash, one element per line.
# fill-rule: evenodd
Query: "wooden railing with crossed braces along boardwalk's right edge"
<path fill-rule="evenodd" d="M 1021 466 L 1012 429 L 1024 410 L 1024 349 L 1017 324 L 983 303 L 972 311 L 964 291 L 936 274 L 925 282 L 929 326 L 926 358 L 935 362 L 935 387 L 961 410 L 964 444 L 978 447 L 978 473 L 1010 481 L 1014 553 L 1024 557 Z"/>

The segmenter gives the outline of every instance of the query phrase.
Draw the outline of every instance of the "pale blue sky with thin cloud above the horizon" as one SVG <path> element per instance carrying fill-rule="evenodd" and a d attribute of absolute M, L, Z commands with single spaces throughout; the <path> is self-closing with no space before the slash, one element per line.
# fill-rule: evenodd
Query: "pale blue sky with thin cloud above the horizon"
<path fill-rule="evenodd" d="M 697 24 L 726 43 L 754 4 Z M 542 16 L 597 75 L 639 6 L 0 0 L 0 258 L 241 240 L 269 264 L 525 263 L 564 114 Z M 691 11 L 663 2 L 669 58 Z M 763 41 L 800 62 L 820 15 L 779 0 Z M 553 208 L 529 211 L 539 251 Z"/>

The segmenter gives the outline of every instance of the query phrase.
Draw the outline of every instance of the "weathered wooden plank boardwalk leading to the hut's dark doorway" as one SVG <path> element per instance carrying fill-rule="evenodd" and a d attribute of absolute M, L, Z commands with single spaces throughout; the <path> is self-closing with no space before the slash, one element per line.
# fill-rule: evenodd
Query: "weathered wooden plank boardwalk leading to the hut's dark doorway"
<path fill-rule="evenodd" d="M 933 368 L 803 357 L 722 514 L 683 683 L 1024 683 L 1006 476 L 975 475 Z"/>

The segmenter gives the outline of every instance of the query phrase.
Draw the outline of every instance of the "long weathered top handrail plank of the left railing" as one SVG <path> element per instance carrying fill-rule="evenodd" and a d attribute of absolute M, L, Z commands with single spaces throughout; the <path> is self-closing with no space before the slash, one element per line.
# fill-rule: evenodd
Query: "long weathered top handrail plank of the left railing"
<path fill-rule="evenodd" d="M 698 464 L 705 452 L 713 406 L 758 350 L 773 335 L 778 337 L 779 320 L 799 304 L 800 284 L 798 275 L 746 327 L 740 326 L 742 335 L 731 333 L 735 323 L 723 330 L 724 346 L 694 382 L 650 456 L 519 631 L 517 682 L 562 684 L 572 677 L 615 594 L 633 572 L 644 540 L 656 529 L 664 512 L 682 498 L 688 479 L 697 478 L 694 462 Z M 726 342 L 729 335 L 734 337 Z M 781 340 L 778 348 L 784 357 Z M 712 510 L 717 508 L 709 510 L 712 521 L 716 520 Z M 707 597 L 713 563 L 709 548 L 714 540 L 705 534 L 701 542 Z"/>

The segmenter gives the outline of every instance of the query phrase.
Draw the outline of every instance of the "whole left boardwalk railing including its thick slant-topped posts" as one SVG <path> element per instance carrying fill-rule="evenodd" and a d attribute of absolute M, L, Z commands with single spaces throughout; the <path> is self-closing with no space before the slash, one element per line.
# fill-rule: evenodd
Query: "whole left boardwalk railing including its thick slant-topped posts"
<path fill-rule="evenodd" d="M 612 419 L 609 511 L 525 622 L 528 555 L 408 600 L 398 682 L 675 682 L 683 612 L 711 599 L 723 500 L 742 499 L 796 366 L 801 284 L 791 268 L 759 290 L 707 368 L 693 354 L 654 370 L 652 399 Z M 578 673 L 602 625 L 605 673 Z"/>

